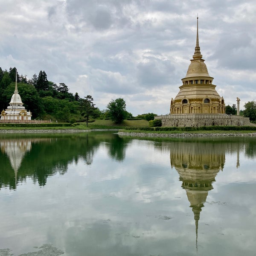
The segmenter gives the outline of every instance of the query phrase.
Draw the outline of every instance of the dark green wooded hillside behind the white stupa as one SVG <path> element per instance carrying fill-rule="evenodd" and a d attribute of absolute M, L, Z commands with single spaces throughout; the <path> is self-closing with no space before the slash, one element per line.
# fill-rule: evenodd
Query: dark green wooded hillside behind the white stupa
<path fill-rule="evenodd" d="M 0 67 L 0 108 L 6 109 L 15 90 L 16 67 L 2 70 Z M 64 83 L 58 85 L 47 79 L 45 71 L 34 74 L 31 79 L 17 72 L 18 91 L 23 106 L 32 111 L 32 119 L 51 119 L 69 122 L 71 118 L 84 121 L 99 117 L 101 111 L 87 95 L 81 98 L 78 93 L 69 92 Z"/>

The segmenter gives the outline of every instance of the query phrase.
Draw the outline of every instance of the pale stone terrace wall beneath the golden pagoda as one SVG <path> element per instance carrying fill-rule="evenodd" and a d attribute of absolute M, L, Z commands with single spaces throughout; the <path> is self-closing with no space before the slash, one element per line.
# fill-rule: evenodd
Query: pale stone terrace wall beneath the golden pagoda
<path fill-rule="evenodd" d="M 249 117 L 233 116 L 227 114 L 176 114 L 166 116 L 155 116 L 162 120 L 163 127 L 200 127 L 211 125 L 250 125 Z"/>

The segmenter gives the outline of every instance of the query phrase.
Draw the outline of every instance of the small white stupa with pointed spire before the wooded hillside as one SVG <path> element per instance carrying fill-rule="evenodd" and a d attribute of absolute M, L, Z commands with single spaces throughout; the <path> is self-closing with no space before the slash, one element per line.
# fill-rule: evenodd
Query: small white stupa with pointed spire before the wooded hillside
<path fill-rule="evenodd" d="M 30 111 L 26 111 L 25 107 L 23 107 L 23 102 L 21 101 L 18 87 L 17 87 L 17 71 L 16 71 L 16 81 L 15 81 L 15 91 L 12 95 L 11 102 L 7 109 L 1 112 L 0 118 L 1 120 L 19 120 L 20 122 L 25 120 L 31 120 L 32 113 Z M 16 121 L 17 122 L 17 121 Z"/>

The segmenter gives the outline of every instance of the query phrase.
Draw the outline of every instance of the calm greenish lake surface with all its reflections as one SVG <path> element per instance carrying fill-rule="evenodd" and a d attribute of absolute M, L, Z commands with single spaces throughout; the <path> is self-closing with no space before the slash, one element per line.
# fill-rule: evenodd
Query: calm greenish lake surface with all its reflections
<path fill-rule="evenodd" d="M 256 138 L 0 135 L 1 256 L 256 254 Z"/>

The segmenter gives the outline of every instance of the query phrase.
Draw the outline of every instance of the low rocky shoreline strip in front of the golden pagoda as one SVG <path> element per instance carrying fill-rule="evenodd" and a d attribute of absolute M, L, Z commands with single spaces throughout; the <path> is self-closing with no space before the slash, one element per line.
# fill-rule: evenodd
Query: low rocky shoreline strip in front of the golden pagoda
<path fill-rule="evenodd" d="M 211 137 L 211 136 L 256 136 L 256 133 L 211 133 L 211 134 L 195 134 L 195 133 L 180 133 L 180 134 L 162 134 L 162 133 L 143 133 L 143 132 L 118 132 L 118 135 L 132 137 Z"/>

